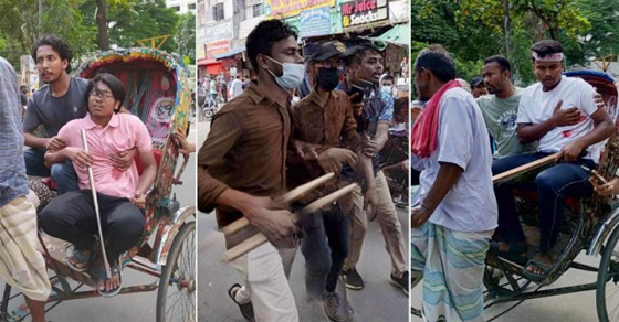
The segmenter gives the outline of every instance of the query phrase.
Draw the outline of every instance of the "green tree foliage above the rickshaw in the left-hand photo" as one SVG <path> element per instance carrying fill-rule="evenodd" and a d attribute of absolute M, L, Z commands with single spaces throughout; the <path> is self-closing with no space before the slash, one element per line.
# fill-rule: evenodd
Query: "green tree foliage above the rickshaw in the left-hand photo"
<path fill-rule="evenodd" d="M 96 21 L 97 2 L 106 9 L 105 23 Z M 193 14 L 181 17 L 164 0 L 0 0 L 0 55 L 18 68 L 19 56 L 30 54 L 34 41 L 49 33 L 69 42 L 76 64 L 84 54 L 106 50 L 106 42 L 132 47 L 166 34 L 164 51 L 196 60 Z"/>

